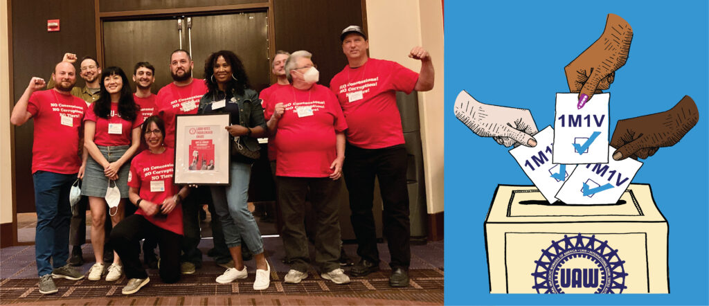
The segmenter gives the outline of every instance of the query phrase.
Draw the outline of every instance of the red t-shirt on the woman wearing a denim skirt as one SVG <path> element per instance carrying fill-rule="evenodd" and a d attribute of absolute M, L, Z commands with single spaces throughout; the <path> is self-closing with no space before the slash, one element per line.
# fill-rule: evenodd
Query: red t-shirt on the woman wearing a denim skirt
<path fill-rule="evenodd" d="M 118 103 L 111 103 L 111 113 L 108 114 L 108 119 L 106 119 L 94 113 L 94 106 L 96 106 L 96 103 L 91 103 L 88 111 L 86 111 L 86 116 L 84 116 L 84 121 L 94 121 L 96 123 L 94 143 L 104 147 L 131 145 L 133 142 L 133 129 L 143 124 L 143 118 L 140 117 L 140 114 L 133 122 L 130 122 L 118 115 Z"/>

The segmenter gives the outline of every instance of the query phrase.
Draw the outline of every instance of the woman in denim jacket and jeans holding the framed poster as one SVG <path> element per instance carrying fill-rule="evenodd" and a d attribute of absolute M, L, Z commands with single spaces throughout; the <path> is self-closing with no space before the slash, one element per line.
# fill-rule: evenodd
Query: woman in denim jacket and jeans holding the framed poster
<path fill-rule="evenodd" d="M 271 269 L 264 256 L 261 232 L 247 206 L 251 164 L 258 158 L 256 152 L 260 149 L 256 138 L 262 137 L 266 130 L 261 100 L 257 92 L 250 89 L 244 66 L 234 52 L 222 50 L 210 55 L 204 65 L 204 75 L 208 79 L 208 91 L 199 101 L 199 113 L 231 114 L 230 125 L 225 129 L 234 142 L 230 186 L 211 186 L 214 208 L 234 261 L 234 268 L 227 269 L 216 281 L 231 283 L 247 277 L 241 258 L 241 244 L 245 243 L 256 259 L 254 290 L 264 290 L 269 287 Z M 208 169 L 210 165 L 195 166 Z"/>

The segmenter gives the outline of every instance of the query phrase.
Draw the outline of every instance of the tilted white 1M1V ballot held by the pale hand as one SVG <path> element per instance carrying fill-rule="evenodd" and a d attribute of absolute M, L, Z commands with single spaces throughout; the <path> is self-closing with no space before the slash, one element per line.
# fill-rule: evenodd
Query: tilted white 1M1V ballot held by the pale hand
<path fill-rule="evenodd" d="M 548 126 L 534 135 L 536 147 L 519 146 L 510 150 L 525 174 L 537 186 L 549 203 L 554 203 L 554 196 L 562 188 L 564 181 L 574 171 L 576 165 L 552 164 L 552 139 L 554 129 Z"/>

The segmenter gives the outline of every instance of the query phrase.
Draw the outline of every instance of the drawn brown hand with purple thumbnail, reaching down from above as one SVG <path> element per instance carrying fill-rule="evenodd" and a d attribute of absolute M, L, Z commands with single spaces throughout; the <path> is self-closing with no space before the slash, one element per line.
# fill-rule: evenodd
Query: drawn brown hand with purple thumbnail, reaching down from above
<path fill-rule="evenodd" d="M 631 40 L 630 24 L 620 16 L 610 13 L 601 38 L 564 67 L 569 91 L 579 93 L 579 109 L 591 100 L 593 94 L 610 87 L 615 78 L 615 70 L 623 67 L 627 61 Z M 582 103 L 583 95 L 587 98 Z"/>

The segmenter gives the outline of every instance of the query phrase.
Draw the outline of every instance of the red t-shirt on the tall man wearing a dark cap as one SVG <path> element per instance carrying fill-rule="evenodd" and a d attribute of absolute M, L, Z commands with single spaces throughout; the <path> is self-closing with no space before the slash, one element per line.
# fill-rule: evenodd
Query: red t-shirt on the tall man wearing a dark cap
<path fill-rule="evenodd" d="M 347 125 L 347 142 L 363 149 L 404 143 L 396 91 L 411 94 L 418 73 L 388 60 L 370 58 L 357 68 L 345 66 L 330 81 Z"/>

